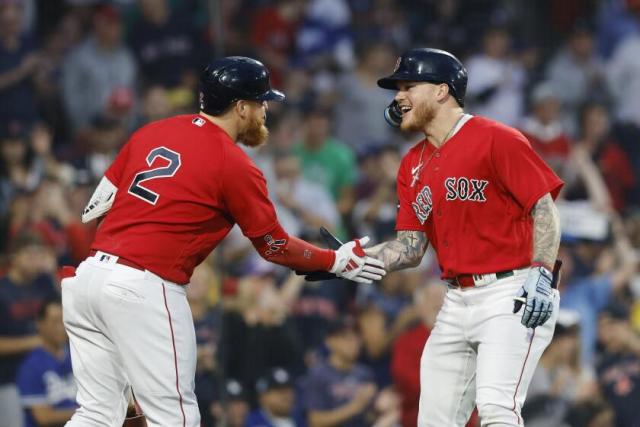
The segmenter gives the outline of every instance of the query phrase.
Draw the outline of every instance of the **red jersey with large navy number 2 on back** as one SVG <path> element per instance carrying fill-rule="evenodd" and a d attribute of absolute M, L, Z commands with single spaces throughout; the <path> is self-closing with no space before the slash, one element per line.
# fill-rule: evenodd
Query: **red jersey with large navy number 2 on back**
<path fill-rule="evenodd" d="M 92 249 L 188 283 L 235 223 L 249 238 L 277 225 L 266 181 L 218 126 L 199 115 L 134 133 L 105 176 L 117 188 Z"/>

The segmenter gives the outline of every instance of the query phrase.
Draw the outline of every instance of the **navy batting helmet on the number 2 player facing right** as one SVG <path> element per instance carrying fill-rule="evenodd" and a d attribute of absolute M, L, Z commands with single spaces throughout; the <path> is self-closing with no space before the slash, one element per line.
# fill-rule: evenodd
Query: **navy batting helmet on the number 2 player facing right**
<path fill-rule="evenodd" d="M 284 94 L 271 88 L 269 70 L 260 61 L 227 56 L 210 62 L 200 74 L 200 110 L 217 116 L 241 99 L 282 101 Z"/>

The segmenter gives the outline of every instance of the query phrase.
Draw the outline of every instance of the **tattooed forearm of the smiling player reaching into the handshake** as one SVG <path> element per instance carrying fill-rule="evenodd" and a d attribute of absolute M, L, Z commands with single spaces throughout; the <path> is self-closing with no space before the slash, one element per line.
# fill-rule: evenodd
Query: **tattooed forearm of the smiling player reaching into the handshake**
<path fill-rule="evenodd" d="M 427 250 L 429 241 L 422 231 L 398 231 L 396 240 L 365 249 L 367 255 L 384 262 L 388 271 L 416 267 Z"/>

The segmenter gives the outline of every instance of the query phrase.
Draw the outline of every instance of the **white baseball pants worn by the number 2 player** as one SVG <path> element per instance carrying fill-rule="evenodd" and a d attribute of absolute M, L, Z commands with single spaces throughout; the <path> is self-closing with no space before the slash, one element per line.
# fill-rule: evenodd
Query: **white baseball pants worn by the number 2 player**
<path fill-rule="evenodd" d="M 150 427 L 196 427 L 196 339 L 184 286 L 98 252 L 62 281 L 80 405 L 67 427 L 121 427 L 129 388 Z"/>

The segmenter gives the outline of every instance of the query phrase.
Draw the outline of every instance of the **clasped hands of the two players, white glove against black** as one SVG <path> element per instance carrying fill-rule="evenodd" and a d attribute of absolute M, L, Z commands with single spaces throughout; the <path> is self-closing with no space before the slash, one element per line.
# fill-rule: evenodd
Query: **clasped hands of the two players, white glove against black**
<path fill-rule="evenodd" d="M 309 282 L 318 280 L 330 280 L 342 277 L 358 283 L 371 283 L 382 279 L 387 274 L 384 263 L 367 256 L 363 246 L 369 242 L 368 237 L 342 243 L 324 227 L 320 227 L 320 234 L 327 242 L 329 249 L 333 249 L 336 260 L 329 271 L 296 271 L 298 275 L 304 275 Z"/>

